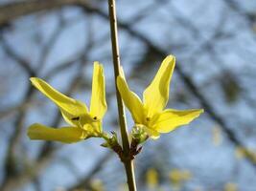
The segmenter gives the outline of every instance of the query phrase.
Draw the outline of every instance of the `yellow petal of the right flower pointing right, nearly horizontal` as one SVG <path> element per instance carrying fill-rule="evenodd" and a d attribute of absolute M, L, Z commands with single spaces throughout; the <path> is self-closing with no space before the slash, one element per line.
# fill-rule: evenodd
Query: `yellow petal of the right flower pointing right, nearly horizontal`
<path fill-rule="evenodd" d="M 169 133 L 180 125 L 186 125 L 199 117 L 203 110 L 165 110 L 158 117 L 154 129 L 159 133 Z"/>

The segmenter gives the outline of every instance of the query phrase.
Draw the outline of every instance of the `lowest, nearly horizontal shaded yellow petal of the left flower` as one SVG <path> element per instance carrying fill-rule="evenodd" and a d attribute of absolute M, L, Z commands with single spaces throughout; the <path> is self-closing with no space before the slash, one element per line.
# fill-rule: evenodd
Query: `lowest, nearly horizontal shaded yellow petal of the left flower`
<path fill-rule="evenodd" d="M 27 132 L 31 139 L 55 140 L 72 143 L 86 138 L 86 133 L 77 127 L 61 127 L 59 129 L 47 127 L 38 123 L 29 127 Z"/>

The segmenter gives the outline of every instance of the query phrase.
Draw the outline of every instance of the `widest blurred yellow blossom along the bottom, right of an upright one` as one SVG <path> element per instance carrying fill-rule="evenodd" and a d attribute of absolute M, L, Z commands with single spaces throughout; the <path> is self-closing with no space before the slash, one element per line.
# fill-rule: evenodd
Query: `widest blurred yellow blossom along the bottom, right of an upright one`
<path fill-rule="evenodd" d="M 188 170 L 173 169 L 169 174 L 169 178 L 174 186 L 174 189 L 177 191 L 180 190 L 182 182 L 192 178 L 192 174 Z"/>

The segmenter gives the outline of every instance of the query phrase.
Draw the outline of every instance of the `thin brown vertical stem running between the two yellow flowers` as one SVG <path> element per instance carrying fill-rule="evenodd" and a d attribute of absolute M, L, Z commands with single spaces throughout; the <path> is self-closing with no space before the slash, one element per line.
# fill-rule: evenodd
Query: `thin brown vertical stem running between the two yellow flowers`
<path fill-rule="evenodd" d="M 116 78 L 120 74 L 120 55 L 119 55 L 119 46 L 118 46 L 115 0 L 108 0 L 108 11 L 109 11 L 112 56 L 113 56 L 115 84 L 116 84 Z M 119 124 L 120 124 L 120 130 L 121 130 L 123 150 L 124 150 L 124 155 L 128 156 L 129 141 L 128 141 L 128 129 L 127 129 L 127 122 L 126 122 L 125 107 L 124 107 L 122 98 L 118 92 L 117 85 L 115 85 L 115 86 L 116 86 L 116 97 L 117 97 Z M 126 168 L 126 173 L 127 173 L 127 178 L 128 178 L 128 189 L 129 189 L 129 191 L 136 191 L 136 182 L 135 182 L 135 178 L 134 178 L 133 161 L 131 159 L 127 159 L 126 161 L 124 161 L 124 165 Z"/>

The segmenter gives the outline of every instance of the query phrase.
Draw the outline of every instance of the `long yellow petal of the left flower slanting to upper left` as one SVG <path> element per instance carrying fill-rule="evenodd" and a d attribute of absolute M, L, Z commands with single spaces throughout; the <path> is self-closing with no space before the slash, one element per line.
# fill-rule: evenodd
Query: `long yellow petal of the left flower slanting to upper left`
<path fill-rule="evenodd" d="M 42 79 L 37 77 L 31 77 L 30 79 L 35 88 L 58 105 L 62 116 L 68 123 L 76 124 L 71 118 L 81 117 L 88 113 L 86 105 L 81 101 L 62 95 Z"/>

